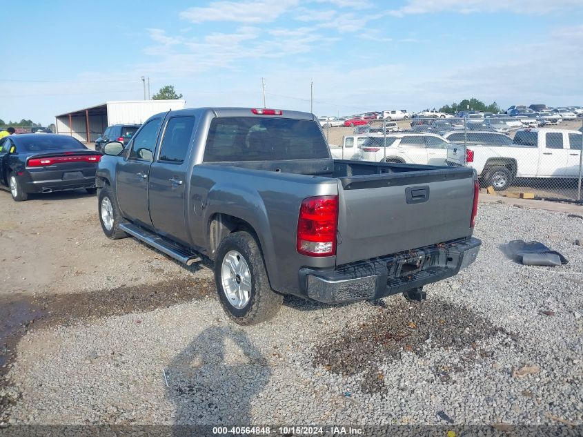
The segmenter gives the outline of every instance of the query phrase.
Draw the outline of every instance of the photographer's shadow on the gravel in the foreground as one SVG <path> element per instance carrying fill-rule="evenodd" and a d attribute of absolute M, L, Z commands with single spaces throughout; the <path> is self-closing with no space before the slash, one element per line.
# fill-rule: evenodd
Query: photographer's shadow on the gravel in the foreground
<path fill-rule="evenodd" d="M 173 434 L 188 434 L 189 425 L 249 425 L 251 402 L 270 374 L 266 358 L 243 331 L 205 329 L 165 370 L 176 406 Z"/>

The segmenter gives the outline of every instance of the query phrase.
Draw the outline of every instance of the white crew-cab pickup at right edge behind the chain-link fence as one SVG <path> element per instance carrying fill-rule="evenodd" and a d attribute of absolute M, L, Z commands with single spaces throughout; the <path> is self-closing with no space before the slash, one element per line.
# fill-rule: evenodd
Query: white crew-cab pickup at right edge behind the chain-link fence
<path fill-rule="evenodd" d="M 583 135 L 577 130 L 520 129 L 508 146 L 448 146 L 446 162 L 475 168 L 486 185 L 508 188 L 516 177 L 578 177 Z"/>

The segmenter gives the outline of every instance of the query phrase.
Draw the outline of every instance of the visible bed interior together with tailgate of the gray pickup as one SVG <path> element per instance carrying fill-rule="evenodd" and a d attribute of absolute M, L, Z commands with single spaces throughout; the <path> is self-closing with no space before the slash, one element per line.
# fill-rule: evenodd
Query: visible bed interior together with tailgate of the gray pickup
<path fill-rule="evenodd" d="M 310 182 L 336 179 L 337 265 L 456 240 L 473 231 L 472 168 L 339 159 L 212 165 L 260 171 L 261 176 L 267 176 L 265 172 L 304 175 L 312 178 Z"/>

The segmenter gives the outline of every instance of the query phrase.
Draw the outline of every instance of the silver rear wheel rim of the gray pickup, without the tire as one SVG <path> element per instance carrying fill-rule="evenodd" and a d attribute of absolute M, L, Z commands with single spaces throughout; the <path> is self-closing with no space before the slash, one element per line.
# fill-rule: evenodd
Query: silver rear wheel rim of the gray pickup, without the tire
<path fill-rule="evenodd" d="M 251 272 L 241 253 L 226 253 L 221 264 L 221 283 L 233 307 L 242 309 L 247 306 L 251 298 Z"/>

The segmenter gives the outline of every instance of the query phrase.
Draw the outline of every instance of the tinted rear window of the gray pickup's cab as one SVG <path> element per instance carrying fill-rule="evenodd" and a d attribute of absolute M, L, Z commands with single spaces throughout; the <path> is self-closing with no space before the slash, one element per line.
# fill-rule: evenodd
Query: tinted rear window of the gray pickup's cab
<path fill-rule="evenodd" d="M 327 157 L 330 152 L 317 123 L 268 117 L 214 118 L 204 150 L 205 162 Z"/>

